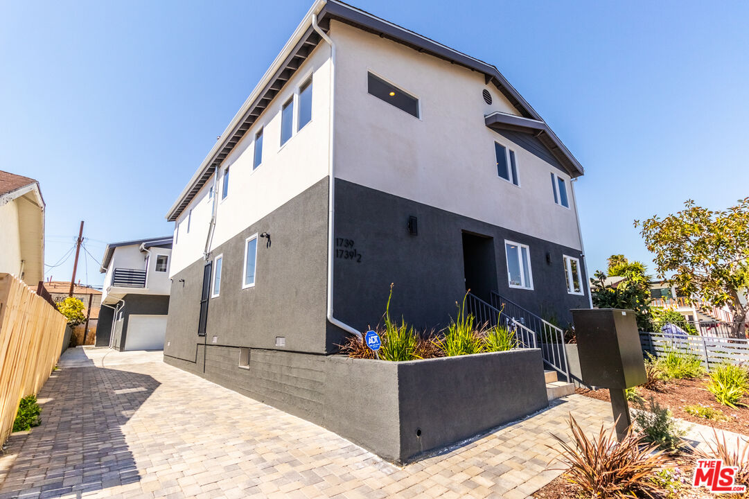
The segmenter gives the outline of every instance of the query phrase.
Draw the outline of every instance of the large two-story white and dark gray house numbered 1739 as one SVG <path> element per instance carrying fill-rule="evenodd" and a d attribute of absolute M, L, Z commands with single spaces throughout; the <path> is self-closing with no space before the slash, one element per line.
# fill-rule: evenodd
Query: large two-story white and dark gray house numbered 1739
<path fill-rule="evenodd" d="M 325 356 L 391 282 L 419 329 L 467 288 L 570 321 L 580 175 L 494 66 L 318 1 L 167 214 L 165 361 L 320 421 Z"/>

